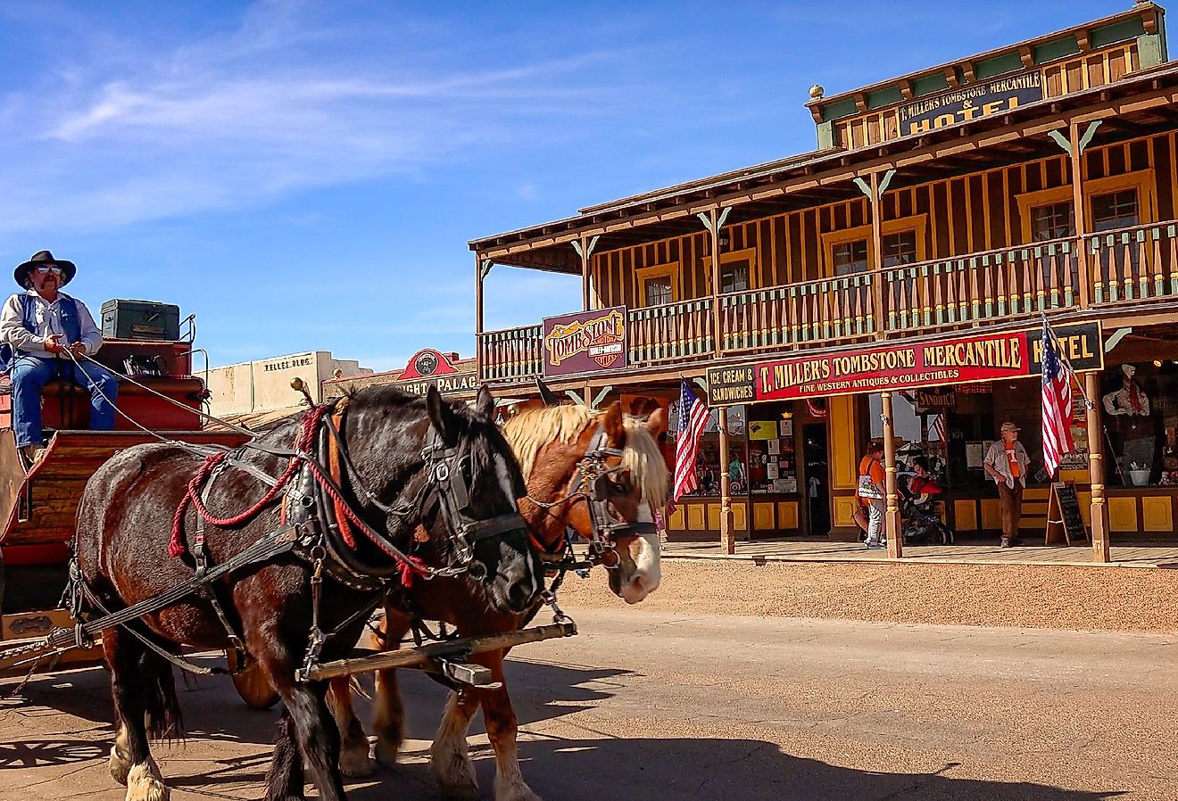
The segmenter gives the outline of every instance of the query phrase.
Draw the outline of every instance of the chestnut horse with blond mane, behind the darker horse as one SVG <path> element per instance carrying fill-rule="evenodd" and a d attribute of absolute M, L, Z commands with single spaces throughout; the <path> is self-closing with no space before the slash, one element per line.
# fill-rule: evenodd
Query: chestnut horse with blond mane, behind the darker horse
<path fill-rule="evenodd" d="M 536 545 L 549 558 L 564 550 L 565 529 L 594 541 L 603 525 L 601 509 L 593 507 L 582 483 L 593 475 L 603 478 L 595 497 L 604 496 L 609 517 L 630 524 L 607 543 L 603 563 L 610 589 L 628 603 L 637 603 L 659 587 L 659 541 L 651 531 L 638 531 L 640 518 L 649 519 L 649 508 L 666 503 L 669 472 L 655 435 L 666 431 L 666 417 L 655 411 L 646 421 L 622 415 L 621 404 L 605 411 L 587 406 L 555 406 L 525 410 L 504 428 L 504 435 L 519 461 L 528 484 L 528 497 L 519 511 L 528 521 Z M 595 472 L 593 465 L 598 471 Z M 588 468 L 588 469 L 587 469 Z M 588 474 L 588 475 L 587 475 Z M 596 519 L 595 519 L 596 515 Z M 462 636 L 476 636 L 517 629 L 536 614 L 502 614 L 478 610 L 474 604 L 454 602 L 462 588 L 435 581 L 415 585 L 410 598 L 430 620 L 455 625 Z M 457 614 L 465 609 L 465 614 Z M 410 631 L 411 621 L 402 610 L 386 609 L 386 631 L 377 634 L 377 644 L 396 647 Z M 463 689 L 451 693 L 445 714 L 430 749 L 434 773 L 451 796 L 477 797 L 474 766 L 466 752 L 466 730 L 478 707 L 495 749 L 496 801 L 538 801 L 523 780 L 516 748 L 517 723 L 503 675 L 507 651 L 472 656 L 471 661 L 490 669 L 499 687 Z M 372 769 L 369 742 L 351 706 L 348 681 L 332 682 L 332 704 L 344 744 L 345 773 L 368 774 Z M 392 764 L 402 743 L 404 710 L 393 670 L 377 674 L 376 733 L 377 759 Z"/>

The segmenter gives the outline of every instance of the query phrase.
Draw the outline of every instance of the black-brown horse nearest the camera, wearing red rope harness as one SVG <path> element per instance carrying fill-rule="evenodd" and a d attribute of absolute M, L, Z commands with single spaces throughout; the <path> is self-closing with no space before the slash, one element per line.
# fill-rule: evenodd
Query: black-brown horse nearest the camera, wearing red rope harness
<path fill-rule="evenodd" d="M 168 796 L 147 735 L 171 734 L 179 723 L 168 664 L 179 643 L 224 649 L 236 629 L 285 702 L 267 801 L 303 799 L 304 764 L 319 797 L 340 801 L 339 737 L 324 702 L 326 682 L 298 680 L 307 651 L 322 647 L 324 661 L 349 651 L 370 610 L 403 591 L 405 571 L 444 569 L 464 598 L 498 614 L 531 608 L 541 567 L 517 511 L 523 477 L 490 419 L 492 408 L 485 391 L 471 410 L 452 406 L 432 389 L 413 397 L 370 388 L 330 415 L 317 408 L 304 416 L 309 419 L 277 425 L 225 458 L 225 469 L 213 470 L 207 482 L 200 477 L 214 462 L 203 465 L 174 444 L 127 449 L 91 477 L 78 511 L 75 552 L 80 593 L 102 611 L 191 582 L 205 554 L 224 565 L 280 536 L 294 541 L 285 552 L 221 575 L 205 591 L 104 631 L 119 724 L 110 768 L 127 785 L 128 801 Z M 322 478 L 324 471 L 337 475 L 331 466 L 315 476 L 317 465 L 331 464 L 338 465 L 338 484 Z M 293 476 L 282 512 L 282 494 L 262 481 L 278 474 Z M 329 490 L 332 499 L 325 501 Z M 186 496 L 192 502 L 185 512 Z M 209 512 L 201 511 L 203 534 L 191 509 L 197 503 Z M 256 514 L 241 514 L 251 505 Z M 329 508 L 351 521 L 346 556 L 332 558 L 343 549 L 331 539 Z M 290 511 L 290 523 L 299 509 L 312 510 L 310 517 L 293 528 L 280 525 L 280 515 Z M 410 551 L 408 558 L 397 555 Z"/>

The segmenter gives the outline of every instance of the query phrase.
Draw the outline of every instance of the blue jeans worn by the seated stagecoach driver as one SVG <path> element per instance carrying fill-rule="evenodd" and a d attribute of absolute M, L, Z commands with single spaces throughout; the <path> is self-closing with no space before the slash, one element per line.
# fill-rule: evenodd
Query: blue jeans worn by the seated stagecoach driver
<path fill-rule="evenodd" d="M 84 362 L 74 364 L 70 359 L 42 359 L 20 356 L 12 363 L 12 428 L 16 435 L 16 446 L 44 445 L 41 433 L 41 390 L 60 375 L 78 386 L 90 390 L 90 428 L 110 431 L 114 428 L 114 402 L 119 395 L 119 380 L 106 368 Z M 105 396 L 105 397 L 104 397 Z"/>

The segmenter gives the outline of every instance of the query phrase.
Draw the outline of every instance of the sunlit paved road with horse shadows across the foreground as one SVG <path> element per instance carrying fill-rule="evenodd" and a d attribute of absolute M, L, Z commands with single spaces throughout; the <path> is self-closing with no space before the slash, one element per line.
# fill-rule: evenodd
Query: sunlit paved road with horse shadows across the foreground
<path fill-rule="evenodd" d="M 510 666 L 524 774 L 548 801 L 1178 799 L 1174 637 L 576 616 L 584 634 Z M 443 694 L 406 687 L 409 759 L 353 783 L 356 801 L 438 797 L 424 755 Z M 172 797 L 260 799 L 276 715 L 219 678 L 181 703 L 188 739 L 155 752 Z M 121 800 L 108 708 L 100 670 L 0 702 L 0 800 Z M 490 797 L 485 737 L 471 742 Z"/>

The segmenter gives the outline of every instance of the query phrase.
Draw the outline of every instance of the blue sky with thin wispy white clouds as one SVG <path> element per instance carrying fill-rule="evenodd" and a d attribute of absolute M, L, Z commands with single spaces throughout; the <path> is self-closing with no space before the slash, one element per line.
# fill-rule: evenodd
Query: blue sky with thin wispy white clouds
<path fill-rule="evenodd" d="M 0 0 L 0 254 L 196 312 L 214 365 L 471 356 L 469 239 L 812 150 L 815 82 L 1130 7 Z M 487 326 L 580 297 L 499 266 Z"/>

